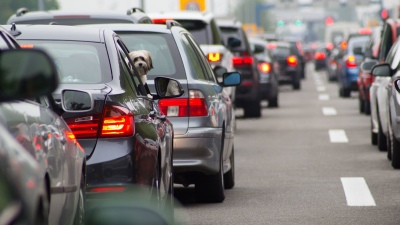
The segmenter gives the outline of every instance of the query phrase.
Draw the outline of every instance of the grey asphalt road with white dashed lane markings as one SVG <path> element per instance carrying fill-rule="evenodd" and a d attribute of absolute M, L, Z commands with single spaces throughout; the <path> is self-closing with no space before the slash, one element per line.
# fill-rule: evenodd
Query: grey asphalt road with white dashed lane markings
<path fill-rule="evenodd" d="M 218 204 L 176 187 L 178 224 L 400 224 L 400 171 L 371 145 L 357 93 L 338 97 L 308 66 L 300 91 L 281 87 L 279 108 L 237 110 L 235 187 Z"/>

